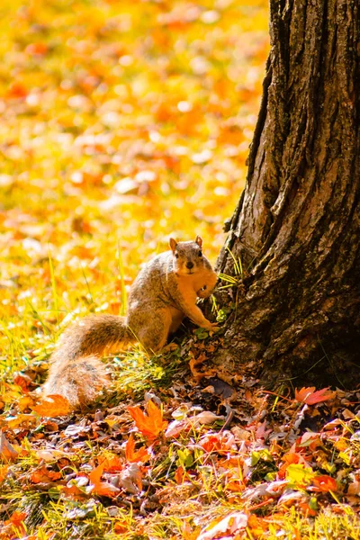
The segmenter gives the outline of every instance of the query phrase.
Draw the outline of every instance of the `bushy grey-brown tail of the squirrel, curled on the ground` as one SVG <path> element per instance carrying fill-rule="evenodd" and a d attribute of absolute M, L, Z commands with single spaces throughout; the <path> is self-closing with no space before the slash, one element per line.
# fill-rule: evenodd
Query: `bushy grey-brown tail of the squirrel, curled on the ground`
<path fill-rule="evenodd" d="M 79 320 L 64 332 L 51 356 L 44 395 L 60 394 L 74 409 L 94 401 L 109 383 L 99 356 L 119 351 L 131 341 L 123 317 L 100 315 Z"/>

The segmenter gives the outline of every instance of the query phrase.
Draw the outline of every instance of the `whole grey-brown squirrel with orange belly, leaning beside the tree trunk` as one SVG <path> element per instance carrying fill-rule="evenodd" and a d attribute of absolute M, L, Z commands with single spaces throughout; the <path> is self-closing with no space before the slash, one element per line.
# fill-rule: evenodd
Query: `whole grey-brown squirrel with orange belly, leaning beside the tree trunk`
<path fill-rule="evenodd" d="M 99 356 L 135 342 L 157 353 L 184 317 L 203 329 L 217 329 L 196 305 L 197 298 L 211 295 L 218 279 L 202 255 L 202 238 L 170 238 L 169 246 L 140 270 L 130 287 L 126 317 L 89 316 L 65 330 L 50 357 L 43 395 L 60 394 L 73 409 L 81 409 L 109 384 Z"/>

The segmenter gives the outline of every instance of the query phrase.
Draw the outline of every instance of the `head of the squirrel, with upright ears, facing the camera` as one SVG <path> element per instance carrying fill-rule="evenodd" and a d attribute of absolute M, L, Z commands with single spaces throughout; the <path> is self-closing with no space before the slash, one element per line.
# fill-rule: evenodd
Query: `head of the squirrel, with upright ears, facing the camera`
<path fill-rule="evenodd" d="M 202 238 L 200 236 L 190 242 L 176 242 L 174 238 L 170 238 L 169 245 L 173 252 L 175 274 L 196 274 L 203 268 Z"/>

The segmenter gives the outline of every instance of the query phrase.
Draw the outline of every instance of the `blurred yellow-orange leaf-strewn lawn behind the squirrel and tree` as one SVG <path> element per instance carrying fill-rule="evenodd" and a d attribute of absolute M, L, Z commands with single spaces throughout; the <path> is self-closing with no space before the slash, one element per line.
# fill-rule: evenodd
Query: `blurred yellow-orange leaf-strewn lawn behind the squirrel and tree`
<path fill-rule="evenodd" d="M 124 285 L 170 235 L 200 234 L 215 262 L 268 13 L 266 0 L 2 0 L 0 27 L 0 345 L 26 362 L 64 318 L 123 311 Z"/>

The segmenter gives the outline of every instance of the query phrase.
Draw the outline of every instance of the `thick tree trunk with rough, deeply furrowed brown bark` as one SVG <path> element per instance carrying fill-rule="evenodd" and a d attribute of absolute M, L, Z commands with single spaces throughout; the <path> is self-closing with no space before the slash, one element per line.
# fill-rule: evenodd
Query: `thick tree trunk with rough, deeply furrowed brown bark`
<path fill-rule="evenodd" d="M 218 270 L 245 270 L 215 362 L 263 382 L 359 383 L 360 8 L 270 0 L 247 184 Z M 236 292 L 235 292 L 236 293 Z"/>

